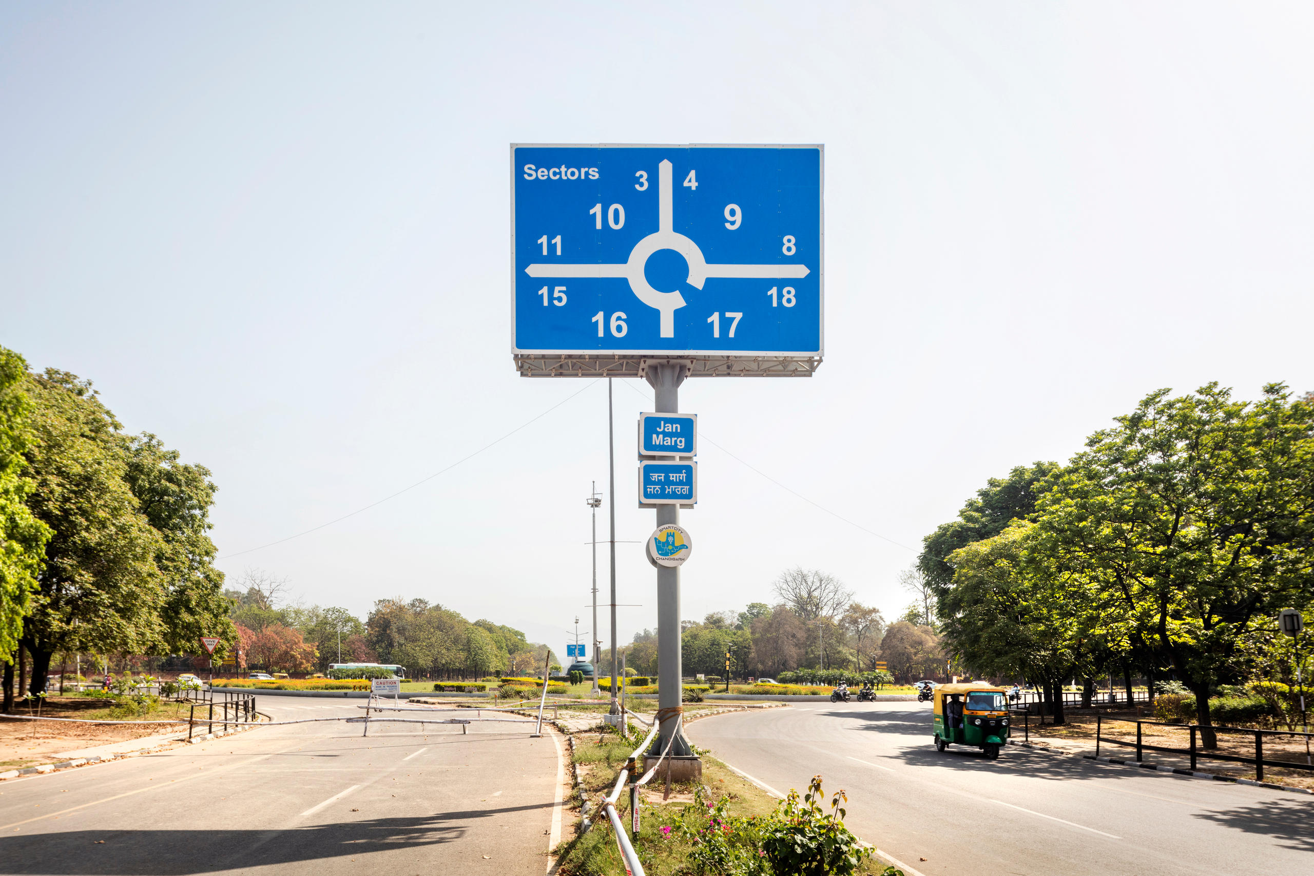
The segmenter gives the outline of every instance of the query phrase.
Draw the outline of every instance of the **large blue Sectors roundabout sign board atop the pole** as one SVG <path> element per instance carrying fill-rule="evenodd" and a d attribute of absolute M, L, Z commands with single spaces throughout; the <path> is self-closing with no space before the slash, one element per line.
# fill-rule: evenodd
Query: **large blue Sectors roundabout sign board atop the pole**
<path fill-rule="evenodd" d="M 512 146 L 516 354 L 821 355 L 820 146 Z"/>

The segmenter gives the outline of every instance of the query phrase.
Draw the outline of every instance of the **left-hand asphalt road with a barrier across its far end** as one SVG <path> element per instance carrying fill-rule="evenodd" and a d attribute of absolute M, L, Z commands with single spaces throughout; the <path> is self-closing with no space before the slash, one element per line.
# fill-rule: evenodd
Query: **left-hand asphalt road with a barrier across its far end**
<path fill-rule="evenodd" d="M 276 719 L 361 700 L 258 697 Z M 406 717 L 397 713 L 394 717 Z M 0 785 L 0 872 L 541 876 L 560 741 L 532 725 L 276 726 Z"/>

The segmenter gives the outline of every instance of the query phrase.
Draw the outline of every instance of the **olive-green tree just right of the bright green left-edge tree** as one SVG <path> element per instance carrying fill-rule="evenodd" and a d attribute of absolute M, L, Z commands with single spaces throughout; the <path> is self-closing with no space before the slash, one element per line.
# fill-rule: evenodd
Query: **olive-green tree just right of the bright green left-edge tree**
<path fill-rule="evenodd" d="M 163 539 L 125 480 L 118 421 L 89 381 L 64 371 L 28 374 L 24 391 L 33 401 L 28 506 L 53 530 L 22 633 L 38 694 L 57 651 L 151 651 L 164 637 L 167 592 L 155 564 Z"/>

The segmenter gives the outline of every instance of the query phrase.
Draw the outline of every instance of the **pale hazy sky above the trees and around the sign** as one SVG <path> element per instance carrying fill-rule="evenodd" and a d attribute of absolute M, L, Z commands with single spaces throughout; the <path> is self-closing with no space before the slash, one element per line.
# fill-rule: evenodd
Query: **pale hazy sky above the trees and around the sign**
<path fill-rule="evenodd" d="M 511 366 L 507 145 L 825 143 L 824 364 L 681 406 L 891 541 L 704 443 L 683 616 L 795 564 L 895 614 L 987 477 L 1158 387 L 1314 388 L 1311 45 L 1300 3 L 7 4 L 0 343 L 214 471 L 230 576 L 561 648 L 606 383 Z M 650 391 L 615 393 L 640 539 Z M 619 591 L 628 641 L 640 545 Z"/>

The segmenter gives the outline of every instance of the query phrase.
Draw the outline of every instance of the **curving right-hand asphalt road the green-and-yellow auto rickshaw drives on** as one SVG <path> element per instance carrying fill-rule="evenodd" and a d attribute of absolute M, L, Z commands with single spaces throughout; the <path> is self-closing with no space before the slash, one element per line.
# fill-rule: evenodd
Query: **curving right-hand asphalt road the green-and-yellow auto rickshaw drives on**
<path fill-rule="evenodd" d="M 731 713 L 687 733 L 778 792 L 820 773 L 848 792 L 850 830 L 928 876 L 1314 873 L 1305 794 L 1013 746 L 940 754 L 929 702 Z"/>

